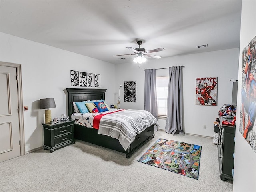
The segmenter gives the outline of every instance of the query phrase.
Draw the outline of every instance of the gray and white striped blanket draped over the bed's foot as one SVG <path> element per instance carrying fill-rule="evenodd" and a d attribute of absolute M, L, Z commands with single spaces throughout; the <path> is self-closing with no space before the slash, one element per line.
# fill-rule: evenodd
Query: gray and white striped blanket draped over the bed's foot
<path fill-rule="evenodd" d="M 150 112 L 128 109 L 102 116 L 98 134 L 118 139 L 127 150 L 135 136 L 151 125 L 158 125 L 158 122 Z"/>

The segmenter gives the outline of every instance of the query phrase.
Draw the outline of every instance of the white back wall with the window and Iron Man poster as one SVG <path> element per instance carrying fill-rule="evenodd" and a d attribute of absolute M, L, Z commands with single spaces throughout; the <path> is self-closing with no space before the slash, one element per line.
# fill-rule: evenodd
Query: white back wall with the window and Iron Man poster
<path fill-rule="evenodd" d="M 148 59 L 140 68 L 134 63 L 119 64 L 116 67 L 116 90 L 124 81 L 137 82 L 136 103 L 124 102 L 124 88 L 120 89 L 120 108 L 144 109 L 143 69 L 182 66 L 184 132 L 202 136 L 213 136 L 214 121 L 223 104 L 231 104 L 232 81 L 238 79 L 239 49 L 219 50 L 201 54 L 190 54 L 170 58 Z M 158 76 L 168 76 L 168 69 L 156 70 Z M 195 105 L 195 80 L 198 77 L 218 77 L 217 106 Z M 117 91 L 116 91 L 117 92 Z M 166 120 L 159 120 L 159 129 L 165 128 Z M 206 129 L 203 126 L 206 125 Z"/>

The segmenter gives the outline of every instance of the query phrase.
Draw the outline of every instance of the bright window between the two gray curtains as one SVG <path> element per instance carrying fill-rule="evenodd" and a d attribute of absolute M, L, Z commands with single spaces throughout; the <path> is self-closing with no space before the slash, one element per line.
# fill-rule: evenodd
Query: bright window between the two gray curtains
<path fill-rule="evenodd" d="M 156 96 L 158 116 L 167 116 L 167 95 L 169 76 L 156 77 Z"/>

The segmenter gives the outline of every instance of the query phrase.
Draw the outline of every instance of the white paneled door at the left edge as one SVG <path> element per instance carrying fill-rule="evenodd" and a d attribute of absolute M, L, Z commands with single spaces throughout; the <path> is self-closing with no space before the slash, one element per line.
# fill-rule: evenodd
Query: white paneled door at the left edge
<path fill-rule="evenodd" d="M 21 155 L 16 77 L 15 67 L 0 66 L 0 162 Z"/>

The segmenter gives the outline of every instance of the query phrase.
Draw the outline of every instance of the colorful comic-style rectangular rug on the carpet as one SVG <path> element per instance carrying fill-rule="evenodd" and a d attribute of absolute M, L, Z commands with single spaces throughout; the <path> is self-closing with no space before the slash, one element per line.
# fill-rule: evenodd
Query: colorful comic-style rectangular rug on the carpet
<path fill-rule="evenodd" d="M 202 146 L 158 139 L 138 162 L 198 180 Z"/>

